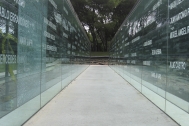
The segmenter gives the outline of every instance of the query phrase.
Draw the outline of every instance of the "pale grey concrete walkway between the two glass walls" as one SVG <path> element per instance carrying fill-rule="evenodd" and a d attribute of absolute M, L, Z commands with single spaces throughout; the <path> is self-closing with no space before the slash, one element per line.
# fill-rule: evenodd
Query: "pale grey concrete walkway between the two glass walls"
<path fill-rule="evenodd" d="M 108 66 L 90 66 L 24 126 L 178 126 Z"/>

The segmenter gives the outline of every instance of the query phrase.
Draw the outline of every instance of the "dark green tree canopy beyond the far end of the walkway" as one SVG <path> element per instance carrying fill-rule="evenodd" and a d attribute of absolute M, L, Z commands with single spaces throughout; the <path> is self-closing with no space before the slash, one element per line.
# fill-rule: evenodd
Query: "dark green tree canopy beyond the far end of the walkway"
<path fill-rule="evenodd" d="M 108 44 L 137 0 L 70 0 L 91 41 L 92 51 Z"/>

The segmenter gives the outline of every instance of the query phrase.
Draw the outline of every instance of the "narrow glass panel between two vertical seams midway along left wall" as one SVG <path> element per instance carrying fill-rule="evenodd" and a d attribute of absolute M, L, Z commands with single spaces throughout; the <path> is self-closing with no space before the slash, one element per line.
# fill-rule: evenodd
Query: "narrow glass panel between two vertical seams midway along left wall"
<path fill-rule="evenodd" d="M 43 106 L 61 90 L 54 88 L 61 81 L 61 54 L 62 54 L 62 27 L 61 12 L 63 1 L 48 1 L 48 9 L 43 17 L 43 52 L 42 56 L 46 60 L 43 61 L 45 67 L 42 69 L 42 86 L 41 92 L 48 90 L 51 93 L 42 93 L 41 105 Z M 53 87 L 52 89 L 50 89 Z M 49 91 L 50 90 L 50 91 Z"/>

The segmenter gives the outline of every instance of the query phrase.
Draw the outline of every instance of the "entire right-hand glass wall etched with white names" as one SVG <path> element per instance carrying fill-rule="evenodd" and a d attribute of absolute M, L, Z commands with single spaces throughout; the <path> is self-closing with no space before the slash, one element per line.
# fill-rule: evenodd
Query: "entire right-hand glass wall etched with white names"
<path fill-rule="evenodd" d="M 141 0 L 111 43 L 110 66 L 189 125 L 189 1 Z"/>

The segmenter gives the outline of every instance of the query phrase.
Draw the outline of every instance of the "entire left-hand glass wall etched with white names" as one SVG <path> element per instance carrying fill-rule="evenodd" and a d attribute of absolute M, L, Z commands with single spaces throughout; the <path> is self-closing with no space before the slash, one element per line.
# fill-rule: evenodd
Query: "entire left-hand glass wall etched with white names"
<path fill-rule="evenodd" d="M 0 125 L 23 124 L 88 67 L 69 0 L 0 0 Z"/>

